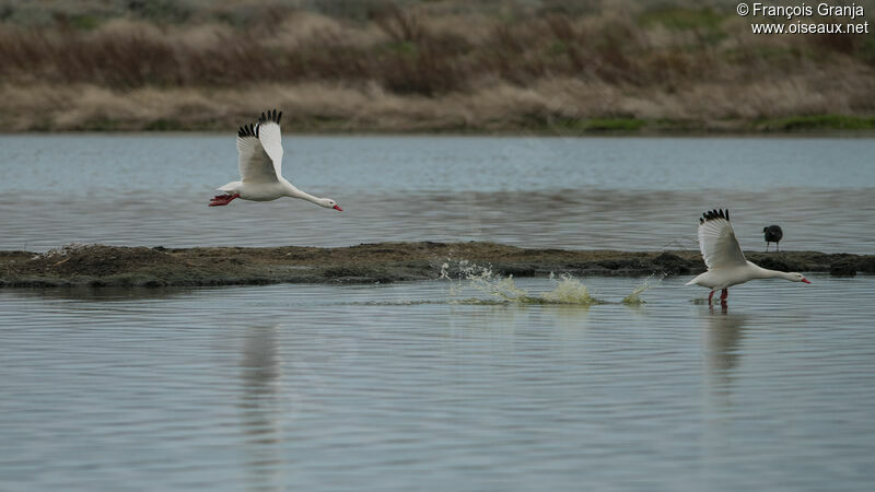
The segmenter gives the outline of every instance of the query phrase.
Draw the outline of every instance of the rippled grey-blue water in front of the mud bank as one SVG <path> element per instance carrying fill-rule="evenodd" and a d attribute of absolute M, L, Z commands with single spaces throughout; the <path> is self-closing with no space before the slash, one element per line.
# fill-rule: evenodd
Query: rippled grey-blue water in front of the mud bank
<path fill-rule="evenodd" d="M 0 489 L 871 490 L 875 279 L 812 279 L 0 291 Z"/>

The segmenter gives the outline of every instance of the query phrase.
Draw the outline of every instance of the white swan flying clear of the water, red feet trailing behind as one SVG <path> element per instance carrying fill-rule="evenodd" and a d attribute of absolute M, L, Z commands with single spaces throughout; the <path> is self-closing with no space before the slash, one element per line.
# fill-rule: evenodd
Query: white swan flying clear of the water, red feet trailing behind
<path fill-rule="evenodd" d="M 224 191 L 210 200 L 210 207 L 231 203 L 235 198 L 270 201 L 280 197 L 301 198 L 326 209 L 343 209 L 330 198 L 317 198 L 295 188 L 282 177 L 282 140 L 280 138 L 282 112 L 261 113 L 256 125 L 243 126 L 237 131 L 240 152 L 240 181 L 218 188 Z"/>

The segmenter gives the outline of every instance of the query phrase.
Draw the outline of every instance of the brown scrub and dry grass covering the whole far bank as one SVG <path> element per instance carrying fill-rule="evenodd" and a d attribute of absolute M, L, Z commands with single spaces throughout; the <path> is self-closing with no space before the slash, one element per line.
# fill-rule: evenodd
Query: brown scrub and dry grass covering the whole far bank
<path fill-rule="evenodd" d="M 0 2 L 0 129 L 875 127 L 874 35 L 755 35 L 732 2 L 70 3 Z"/>

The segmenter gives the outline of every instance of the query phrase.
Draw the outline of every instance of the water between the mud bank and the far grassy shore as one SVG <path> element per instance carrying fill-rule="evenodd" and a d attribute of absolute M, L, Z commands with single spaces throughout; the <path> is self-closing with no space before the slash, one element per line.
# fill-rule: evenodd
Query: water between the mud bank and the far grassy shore
<path fill-rule="evenodd" d="M 237 179 L 231 136 L 0 137 L 0 248 L 348 246 L 495 241 L 696 248 L 728 207 L 743 246 L 873 253 L 873 139 L 287 137 L 284 174 L 345 212 L 299 200 L 207 208 Z"/>

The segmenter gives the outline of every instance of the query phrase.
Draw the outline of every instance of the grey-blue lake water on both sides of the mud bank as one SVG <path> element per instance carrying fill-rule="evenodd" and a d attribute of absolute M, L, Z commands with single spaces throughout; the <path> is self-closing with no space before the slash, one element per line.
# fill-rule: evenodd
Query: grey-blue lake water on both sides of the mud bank
<path fill-rule="evenodd" d="M 696 248 L 727 206 L 750 249 L 779 223 L 786 249 L 875 250 L 875 140 L 283 143 L 343 213 L 207 208 L 233 137 L 0 137 L 0 248 Z M 625 278 L 585 279 L 591 307 L 447 281 L 0 290 L 0 490 L 871 490 L 875 278 L 809 278 L 725 313 L 689 278 L 638 307 Z"/>

